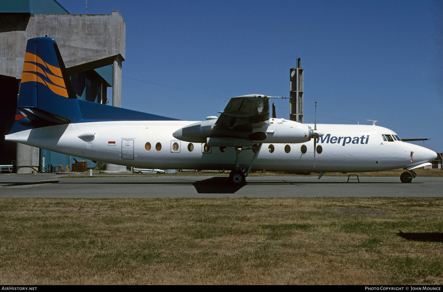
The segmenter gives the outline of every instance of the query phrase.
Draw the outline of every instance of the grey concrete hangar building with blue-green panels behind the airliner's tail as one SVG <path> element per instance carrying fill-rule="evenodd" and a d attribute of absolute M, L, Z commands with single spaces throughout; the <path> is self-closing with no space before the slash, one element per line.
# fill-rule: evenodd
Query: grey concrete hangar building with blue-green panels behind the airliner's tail
<path fill-rule="evenodd" d="M 56 0 L 0 2 L 0 164 L 14 172 L 61 164 L 71 157 L 24 144 L 5 142 L 14 121 L 27 40 L 49 36 L 58 44 L 77 98 L 107 104 L 113 87 L 113 106 L 121 106 L 121 62 L 125 58 L 126 24 L 120 12 L 110 15 L 70 14 Z M 88 166 L 95 166 L 90 160 Z"/>

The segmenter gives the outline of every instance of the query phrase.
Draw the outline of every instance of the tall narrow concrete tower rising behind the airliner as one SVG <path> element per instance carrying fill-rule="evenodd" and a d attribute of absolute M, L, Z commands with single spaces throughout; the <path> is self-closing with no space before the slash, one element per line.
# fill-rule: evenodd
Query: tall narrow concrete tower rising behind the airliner
<path fill-rule="evenodd" d="M 303 69 L 301 60 L 297 60 L 297 68 L 290 69 L 289 77 L 289 119 L 303 123 Z"/>

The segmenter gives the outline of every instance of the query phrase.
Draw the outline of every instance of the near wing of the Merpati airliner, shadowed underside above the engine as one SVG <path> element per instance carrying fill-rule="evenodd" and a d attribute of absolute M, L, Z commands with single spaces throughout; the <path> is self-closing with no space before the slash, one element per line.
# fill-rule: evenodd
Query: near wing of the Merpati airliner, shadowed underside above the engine
<path fill-rule="evenodd" d="M 244 95 L 233 97 L 220 113 L 215 128 L 252 129 L 269 125 L 269 97 Z"/>

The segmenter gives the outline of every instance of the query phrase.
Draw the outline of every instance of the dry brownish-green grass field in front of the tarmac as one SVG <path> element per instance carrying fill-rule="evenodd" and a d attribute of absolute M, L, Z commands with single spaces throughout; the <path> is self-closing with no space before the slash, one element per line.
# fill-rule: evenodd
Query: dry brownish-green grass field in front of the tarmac
<path fill-rule="evenodd" d="M 1 198 L 0 282 L 442 284 L 442 214 L 441 198 Z"/>

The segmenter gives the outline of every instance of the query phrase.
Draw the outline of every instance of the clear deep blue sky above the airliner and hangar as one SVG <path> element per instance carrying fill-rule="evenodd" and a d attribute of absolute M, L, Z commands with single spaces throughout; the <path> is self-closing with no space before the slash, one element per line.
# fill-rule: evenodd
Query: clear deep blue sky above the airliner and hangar
<path fill-rule="evenodd" d="M 85 1 L 59 0 L 84 14 Z M 89 0 L 126 22 L 122 106 L 204 120 L 225 97 L 289 95 L 301 58 L 305 123 L 369 124 L 443 152 L 443 1 Z M 135 81 L 136 78 L 213 95 Z M 288 118 L 287 99 L 272 100 Z M 321 130 L 321 129 L 320 129 Z M 423 142 L 416 144 L 423 145 Z"/>

